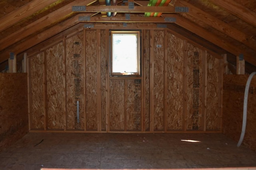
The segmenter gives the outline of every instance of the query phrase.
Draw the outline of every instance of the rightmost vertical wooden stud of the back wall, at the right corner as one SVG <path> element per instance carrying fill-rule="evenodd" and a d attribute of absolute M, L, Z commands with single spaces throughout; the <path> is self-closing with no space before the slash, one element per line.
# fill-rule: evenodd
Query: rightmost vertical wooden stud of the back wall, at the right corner
<path fill-rule="evenodd" d="M 218 130 L 222 131 L 223 74 L 226 71 L 224 59 L 219 60 L 218 67 Z"/>

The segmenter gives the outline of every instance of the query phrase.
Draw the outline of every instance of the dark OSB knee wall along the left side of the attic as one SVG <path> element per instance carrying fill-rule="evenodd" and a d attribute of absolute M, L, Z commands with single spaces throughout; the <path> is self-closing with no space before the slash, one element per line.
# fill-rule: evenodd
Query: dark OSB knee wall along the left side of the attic
<path fill-rule="evenodd" d="M 26 73 L 0 73 L 0 150 L 28 132 Z"/>

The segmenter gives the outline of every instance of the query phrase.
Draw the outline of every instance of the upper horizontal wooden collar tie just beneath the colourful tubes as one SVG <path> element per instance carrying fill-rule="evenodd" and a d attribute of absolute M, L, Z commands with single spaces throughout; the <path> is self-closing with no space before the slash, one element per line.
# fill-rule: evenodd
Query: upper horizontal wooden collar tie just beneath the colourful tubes
<path fill-rule="evenodd" d="M 119 12 L 119 13 L 161 12 L 161 13 L 173 13 L 173 14 L 180 13 L 180 12 L 175 12 L 174 6 L 134 6 L 134 9 L 129 9 L 128 6 L 86 6 L 85 11 L 78 11 L 78 13 L 94 13 L 94 12 Z"/>

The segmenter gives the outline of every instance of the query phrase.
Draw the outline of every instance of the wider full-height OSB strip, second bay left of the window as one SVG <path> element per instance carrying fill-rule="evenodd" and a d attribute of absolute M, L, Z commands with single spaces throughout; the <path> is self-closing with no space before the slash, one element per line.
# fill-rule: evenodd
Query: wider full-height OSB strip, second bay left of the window
<path fill-rule="evenodd" d="M 97 54 L 96 30 L 86 30 L 86 130 L 97 130 Z"/>

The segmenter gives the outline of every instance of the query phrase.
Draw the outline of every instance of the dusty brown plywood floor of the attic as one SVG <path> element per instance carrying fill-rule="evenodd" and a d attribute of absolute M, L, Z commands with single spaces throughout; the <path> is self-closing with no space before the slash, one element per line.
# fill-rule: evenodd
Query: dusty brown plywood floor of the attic
<path fill-rule="evenodd" d="M 251 166 L 256 167 L 256 152 L 236 147 L 235 141 L 220 133 L 28 133 L 0 152 L 0 170 Z"/>

